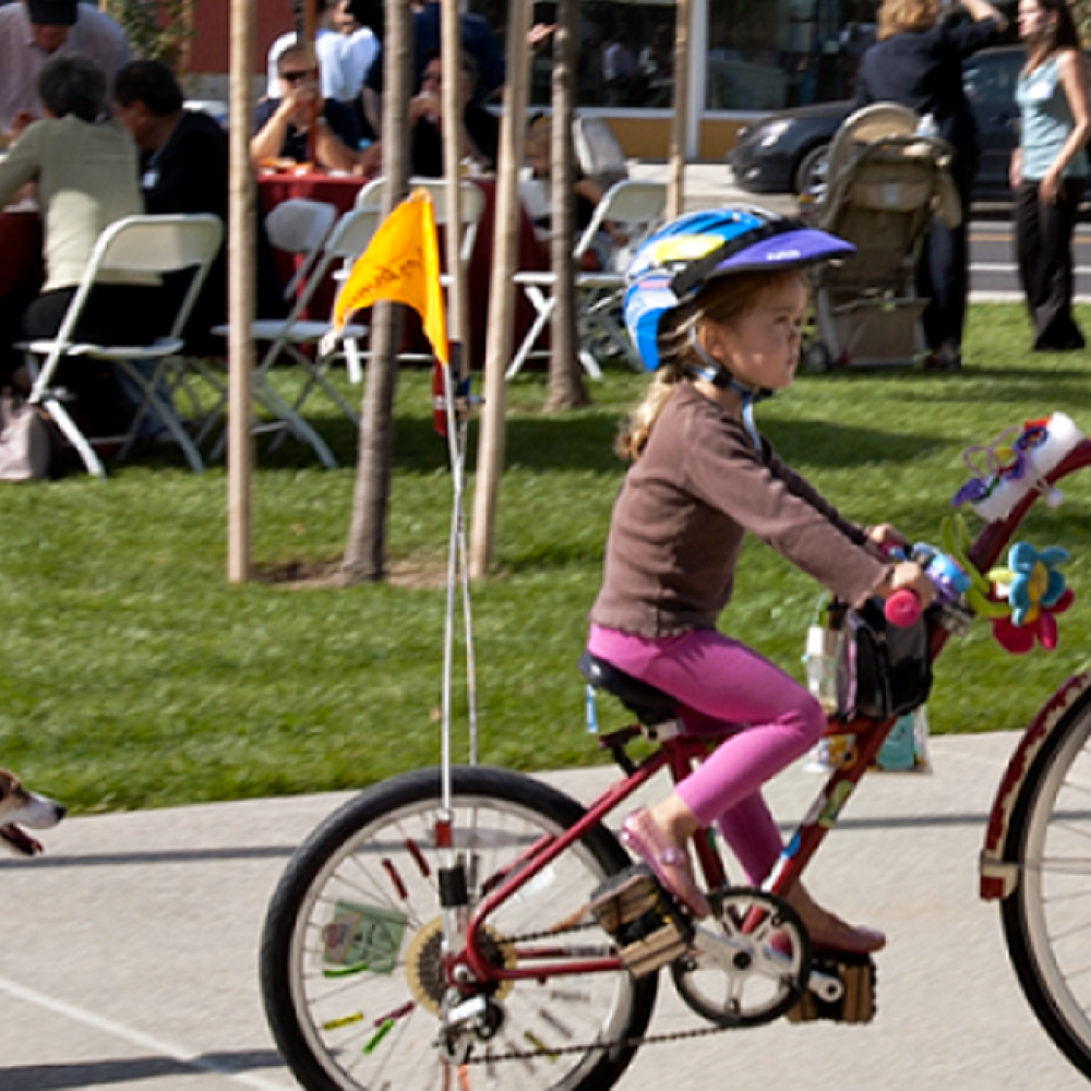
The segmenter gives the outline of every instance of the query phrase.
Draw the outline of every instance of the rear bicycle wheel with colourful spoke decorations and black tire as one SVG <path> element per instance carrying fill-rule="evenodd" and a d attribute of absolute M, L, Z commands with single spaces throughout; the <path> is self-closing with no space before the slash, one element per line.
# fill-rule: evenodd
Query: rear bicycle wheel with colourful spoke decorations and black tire
<path fill-rule="evenodd" d="M 440 1020 L 420 1003 L 421 990 L 427 992 L 422 982 L 433 982 L 434 975 L 417 968 L 413 954 L 439 943 L 439 861 L 431 837 L 425 837 L 439 804 L 437 769 L 418 770 L 364 790 L 308 837 L 274 891 L 261 943 L 261 992 L 277 1046 L 309 1091 L 445 1086 L 440 1078 L 444 1062 L 435 1045 Z M 516 848 L 532 843 L 542 832 L 566 829 L 586 813 L 575 800 L 540 781 L 481 767 L 453 770 L 452 812 L 455 848 L 477 864 L 477 875 L 470 875 L 471 895 L 475 882 L 500 863 L 509 863 Z M 423 875 L 418 856 L 430 877 Z M 600 882 L 630 863 L 606 827 L 592 827 L 491 915 L 497 949 L 504 937 L 544 932 L 564 920 L 586 904 Z M 397 875 L 404 898 L 393 896 L 392 874 Z M 404 924 L 401 934 L 387 945 L 388 966 L 331 979 L 329 937 L 336 944 L 340 933 L 329 930 L 334 919 L 348 911 L 346 906 L 357 914 L 388 913 L 395 922 L 400 916 Z M 589 935 L 609 942 L 602 932 L 582 930 L 575 933 L 575 943 L 586 946 Z M 550 942 L 560 944 L 563 936 L 551 936 Z M 647 1028 L 656 990 L 655 975 L 634 981 L 624 970 L 520 981 L 511 988 L 502 985 L 496 1000 L 504 1023 L 471 1059 L 487 1068 L 503 1065 L 499 1086 L 505 1091 L 609 1088 L 636 1052 L 634 1040 Z M 384 1012 L 397 1016 L 386 1028 L 386 1044 L 380 1042 L 367 1052 L 380 1036 Z M 526 1059 L 526 1054 L 543 1047 L 563 1046 L 565 1033 L 572 1044 L 602 1044 L 584 1051 L 558 1048 L 555 1054 Z M 513 1052 L 524 1057 L 502 1056 Z M 495 1060 L 490 1059 L 493 1056 Z M 448 1075 L 452 1087 L 461 1086 Z"/>

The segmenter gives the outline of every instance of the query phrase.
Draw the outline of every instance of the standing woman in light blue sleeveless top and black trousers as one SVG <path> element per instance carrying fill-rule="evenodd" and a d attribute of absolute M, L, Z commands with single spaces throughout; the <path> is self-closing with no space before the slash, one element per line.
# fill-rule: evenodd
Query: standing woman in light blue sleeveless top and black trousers
<path fill-rule="evenodd" d="M 1027 63 L 1016 101 L 1022 112 L 1011 155 L 1019 277 L 1034 323 L 1034 351 L 1083 348 L 1072 317 L 1072 233 L 1091 134 L 1088 75 L 1065 0 L 1019 0 Z"/>

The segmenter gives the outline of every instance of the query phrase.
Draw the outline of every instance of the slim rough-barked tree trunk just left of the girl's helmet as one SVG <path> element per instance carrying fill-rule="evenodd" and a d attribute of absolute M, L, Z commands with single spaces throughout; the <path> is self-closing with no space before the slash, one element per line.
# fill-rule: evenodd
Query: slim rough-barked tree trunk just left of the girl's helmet
<path fill-rule="evenodd" d="M 549 392 L 547 412 L 588 404 L 576 347 L 576 292 L 573 284 L 573 239 L 576 237 L 572 117 L 575 104 L 576 0 L 558 4 L 553 36 L 553 163 L 550 170 L 553 236 L 550 257 L 556 274 L 556 305 L 550 321 Z"/>

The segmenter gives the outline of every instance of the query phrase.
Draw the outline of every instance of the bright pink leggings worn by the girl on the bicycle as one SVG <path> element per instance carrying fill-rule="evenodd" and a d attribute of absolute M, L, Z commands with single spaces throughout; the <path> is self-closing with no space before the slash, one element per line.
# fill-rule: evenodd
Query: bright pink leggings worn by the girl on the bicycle
<path fill-rule="evenodd" d="M 592 655 L 682 704 L 690 734 L 726 735 L 678 786 L 703 826 L 712 822 L 752 884 L 772 870 L 782 843 L 762 786 L 819 739 L 818 703 L 779 667 L 715 630 L 651 640 L 591 626 Z"/>

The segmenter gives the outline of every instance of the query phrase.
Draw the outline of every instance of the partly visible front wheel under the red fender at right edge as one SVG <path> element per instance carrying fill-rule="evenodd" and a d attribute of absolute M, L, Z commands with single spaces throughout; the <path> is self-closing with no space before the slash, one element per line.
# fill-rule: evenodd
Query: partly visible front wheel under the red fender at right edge
<path fill-rule="evenodd" d="M 1089 740 L 1091 693 L 1065 712 L 1019 790 L 1005 842 L 1005 860 L 1019 865 L 1019 877 L 1000 913 L 1008 955 L 1034 1015 L 1091 1078 Z"/>

